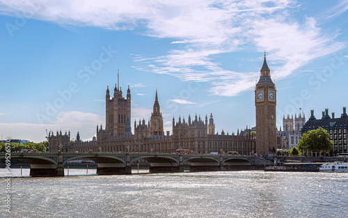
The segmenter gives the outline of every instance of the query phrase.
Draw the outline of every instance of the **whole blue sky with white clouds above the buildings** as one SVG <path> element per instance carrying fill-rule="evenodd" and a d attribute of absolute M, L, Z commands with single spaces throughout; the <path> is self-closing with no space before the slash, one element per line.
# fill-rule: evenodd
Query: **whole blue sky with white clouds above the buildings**
<path fill-rule="evenodd" d="M 105 123 L 106 86 L 132 94 L 148 120 L 159 94 L 173 116 L 210 113 L 216 130 L 255 126 L 264 50 L 277 87 L 277 125 L 299 108 L 317 118 L 347 107 L 347 1 L 2 1 L 0 133 L 44 141 L 45 130 Z"/>

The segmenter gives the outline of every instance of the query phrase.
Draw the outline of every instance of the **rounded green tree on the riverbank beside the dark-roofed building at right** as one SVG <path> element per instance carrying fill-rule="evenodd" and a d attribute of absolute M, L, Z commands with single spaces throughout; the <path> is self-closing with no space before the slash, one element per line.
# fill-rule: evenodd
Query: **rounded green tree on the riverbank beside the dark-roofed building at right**
<path fill-rule="evenodd" d="M 299 150 L 303 151 L 329 151 L 332 146 L 330 134 L 322 127 L 304 133 L 299 141 Z"/>

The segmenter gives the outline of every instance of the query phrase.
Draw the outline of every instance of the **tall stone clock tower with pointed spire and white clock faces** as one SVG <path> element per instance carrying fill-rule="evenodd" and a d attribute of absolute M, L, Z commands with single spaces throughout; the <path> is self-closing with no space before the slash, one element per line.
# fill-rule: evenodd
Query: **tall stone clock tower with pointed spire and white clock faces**
<path fill-rule="evenodd" d="M 264 52 L 260 79 L 255 86 L 256 152 L 260 155 L 277 148 L 276 85 L 271 80 L 270 72 Z"/>

